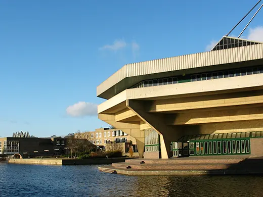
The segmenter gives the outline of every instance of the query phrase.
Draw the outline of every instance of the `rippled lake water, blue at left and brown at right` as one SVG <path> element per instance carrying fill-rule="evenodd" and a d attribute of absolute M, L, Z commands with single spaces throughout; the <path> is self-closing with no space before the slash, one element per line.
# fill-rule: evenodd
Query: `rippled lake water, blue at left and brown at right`
<path fill-rule="evenodd" d="M 0 163 L 0 196 L 263 196 L 262 176 L 125 176 L 97 165 Z"/>

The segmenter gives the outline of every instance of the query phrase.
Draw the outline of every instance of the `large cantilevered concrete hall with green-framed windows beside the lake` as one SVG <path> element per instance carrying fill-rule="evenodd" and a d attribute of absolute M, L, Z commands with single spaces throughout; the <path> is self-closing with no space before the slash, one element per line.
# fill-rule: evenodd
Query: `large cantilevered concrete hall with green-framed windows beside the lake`
<path fill-rule="evenodd" d="M 124 65 L 97 87 L 99 119 L 140 157 L 263 156 L 263 43 L 223 37 L 210 52 Z"/>

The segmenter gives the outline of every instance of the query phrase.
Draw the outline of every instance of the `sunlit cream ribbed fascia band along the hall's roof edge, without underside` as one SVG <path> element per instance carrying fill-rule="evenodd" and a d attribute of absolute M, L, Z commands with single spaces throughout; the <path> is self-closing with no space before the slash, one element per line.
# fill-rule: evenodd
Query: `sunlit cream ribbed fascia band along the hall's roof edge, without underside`
<path fill-rule="evenodd" d="M 127 64 L 97 88 L 100 95 L 125 77 L 263 59 L 263 44 Z M 127 84 L 127 87 L 129 84 Z"/>

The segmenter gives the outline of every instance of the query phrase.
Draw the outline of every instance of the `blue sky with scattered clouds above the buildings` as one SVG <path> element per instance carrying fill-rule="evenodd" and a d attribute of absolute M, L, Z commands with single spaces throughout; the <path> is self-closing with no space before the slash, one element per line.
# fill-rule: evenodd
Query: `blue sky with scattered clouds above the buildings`
<path fill-rule="evenodd" d="M 96 115 L 101 82 L 127 63 L 207 50 L 256 2 L 1 1 L 0 136 L 107 126 Z M 262 40 L 262 19 L 243 36 Z"/>

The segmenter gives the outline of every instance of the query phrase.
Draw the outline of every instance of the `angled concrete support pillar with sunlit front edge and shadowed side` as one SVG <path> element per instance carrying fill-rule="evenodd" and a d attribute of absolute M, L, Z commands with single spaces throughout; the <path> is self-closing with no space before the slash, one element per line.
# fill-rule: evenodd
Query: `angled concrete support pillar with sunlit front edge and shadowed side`
<path fill-rule="evenodd" d="M 161 114 L 148 113 L 144 101 L 127 100 L 126 106 L 160 134 L 161 158 L 170 157 L 170 142 L 181 137 L 181 131 L 165 124 Z"/>

